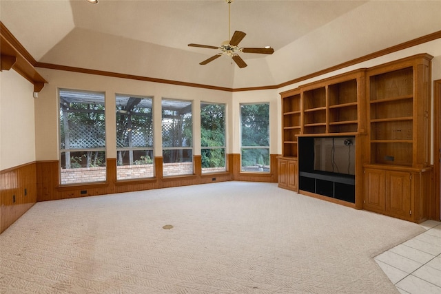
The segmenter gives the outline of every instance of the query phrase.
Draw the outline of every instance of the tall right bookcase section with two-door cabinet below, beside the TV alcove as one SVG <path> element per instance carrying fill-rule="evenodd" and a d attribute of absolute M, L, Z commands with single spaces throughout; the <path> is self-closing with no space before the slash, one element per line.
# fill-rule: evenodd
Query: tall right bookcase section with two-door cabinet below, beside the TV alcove
<path fill-rule="evenodd" d="M 365 209 L 413 222 L 429 216 L 432 58 L 418 54 L 367 71 Z"/>

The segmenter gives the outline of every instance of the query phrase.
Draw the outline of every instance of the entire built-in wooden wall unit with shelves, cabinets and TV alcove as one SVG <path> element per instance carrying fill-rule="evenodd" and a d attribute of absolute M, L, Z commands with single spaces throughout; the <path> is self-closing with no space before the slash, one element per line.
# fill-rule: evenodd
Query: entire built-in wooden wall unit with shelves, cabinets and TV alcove
<path fill-rule="evenodd" d="M 413 222 L 426 220 L 432 193 L 432 58 L 418 54 L 280 93 L 279 187 Z M 341 140 L 347 147 L 336 147 Z M 334 170 L 338 148 L 347 150 L 348 160 L 342 160 L 352 165 L 347 172 Z"/>

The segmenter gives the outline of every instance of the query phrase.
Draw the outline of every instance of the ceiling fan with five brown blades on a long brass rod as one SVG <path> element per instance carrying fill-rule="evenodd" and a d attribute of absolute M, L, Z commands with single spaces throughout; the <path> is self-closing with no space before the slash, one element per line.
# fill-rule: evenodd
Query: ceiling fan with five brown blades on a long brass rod
<path fill-rule="evenodd" d="M 231 18 L 231 12 L 230 12 L 230 4 L 234 0 L 225 0 L 228 3 L 228 39 L 229 41 L 224 41 L 220 47 L 216 46 L 210 46 L 210 45 L 201 45 L 201 44 L 188 44 L 189 47 L 199 47 L 199 48 L 208 48 L 208 49 L 218 49 L 222 52 L 210 57 L 209 59 L 202 61 L 201 65 L 205 65 L 209 62 L 214 61 L 214 59 L 218 59 L 222 55 L 230 56 L 233 61 L 238 65 L 238 67 L 243 68 L 247 66 L 247 63 L 243 61 L 243 59 L 239 56 L 238 52 L 243 53 L 258 53 L 258 54 L 273 54 L 274 49 L 266 46 L 265 48 L 240 48 L 238 45 L 240 41 L 247 35 L 245 32 L 240 32 L 236 30 L 232 36 L 232 38 L 229 38 L 229 32 L 230 32 L 230 18 Z"/>

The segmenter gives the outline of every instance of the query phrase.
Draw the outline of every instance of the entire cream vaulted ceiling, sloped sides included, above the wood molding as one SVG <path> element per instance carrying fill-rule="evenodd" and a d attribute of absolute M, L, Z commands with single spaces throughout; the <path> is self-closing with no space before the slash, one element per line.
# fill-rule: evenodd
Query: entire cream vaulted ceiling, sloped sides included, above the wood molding
<path fill-rule="evenodd" d="M 220 87 L 275 85 L 441 29 L 441 1 L 1 0 L 1 21 L 40 63 Z M 272 55 L 207 65 L 235 30 Z"/>

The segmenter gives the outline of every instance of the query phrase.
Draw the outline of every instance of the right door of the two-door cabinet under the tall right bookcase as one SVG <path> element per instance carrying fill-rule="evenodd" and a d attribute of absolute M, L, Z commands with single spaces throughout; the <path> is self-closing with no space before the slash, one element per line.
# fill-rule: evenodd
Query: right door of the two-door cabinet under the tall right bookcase
<path fill-rule="evenodd" d="M 386 211 L 400 218 L 411 218 L 411 174 L 386 171 Z"/>

